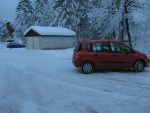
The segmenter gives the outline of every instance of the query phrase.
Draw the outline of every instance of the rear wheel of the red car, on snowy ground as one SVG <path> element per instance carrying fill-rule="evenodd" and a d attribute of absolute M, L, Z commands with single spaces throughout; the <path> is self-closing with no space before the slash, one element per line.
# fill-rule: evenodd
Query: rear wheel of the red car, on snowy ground
<path fill-rule="evenodd" d="M 81 71 L 84 74 L 91 74 L 94 71 L 94 65 L 91 62 L 84 62 L 81 65 Z"/>

